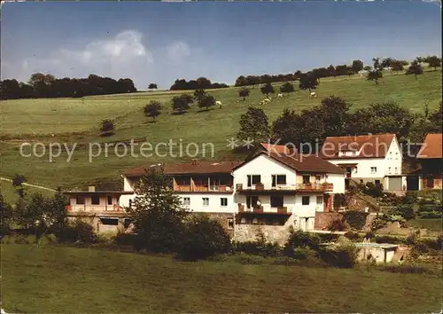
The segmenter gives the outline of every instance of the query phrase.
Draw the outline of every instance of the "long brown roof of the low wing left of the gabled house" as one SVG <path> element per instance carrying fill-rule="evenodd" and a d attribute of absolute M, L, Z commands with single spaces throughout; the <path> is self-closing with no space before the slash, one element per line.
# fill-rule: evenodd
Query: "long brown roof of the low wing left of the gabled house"
<path fill-rule="evenodd" d="M 163 170 L 167 175 L 188 174 L 230 174 L 240 161 L 194 161 L 182 163 L 152 164 L 128 169 L 123 173 L 126 177 L 142 177 L 149 169 Z"/>

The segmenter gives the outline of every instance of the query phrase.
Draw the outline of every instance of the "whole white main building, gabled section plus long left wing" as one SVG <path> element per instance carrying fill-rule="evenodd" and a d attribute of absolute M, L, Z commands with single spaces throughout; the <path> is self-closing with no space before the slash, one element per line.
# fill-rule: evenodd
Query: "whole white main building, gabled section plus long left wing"
<path fill-rule="evenodd" d="M 287 152 L 286 152 L 287 153 Z M 193 213 L 218 219 L 238 240 L 254 239 L 259 229 L 270 240 L 287 239 L 289 227 L 314 230 L 316 213 L 332 208 L 333 194 L 345 192 L 345 171 L 319 157 L 254 153 L 246 161 L 192 161 L 150 165 L 123 174 L 121 203 L 131 206 L 134 185 L 161 169 L 172 188 Z"/>

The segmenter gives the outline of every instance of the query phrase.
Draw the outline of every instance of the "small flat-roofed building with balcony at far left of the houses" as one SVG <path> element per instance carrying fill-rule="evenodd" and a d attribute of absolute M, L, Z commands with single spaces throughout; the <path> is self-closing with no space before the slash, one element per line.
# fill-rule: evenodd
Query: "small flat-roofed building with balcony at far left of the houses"
<path fill-rule="evenodd" d="M 82 219 L 91 224 L 96 232 L 117 232 L 128 226 L 124 208 L 120 206 L 120 196 L 131 192 L 89 191 L 65 192 L 69 205 L 66 206 L 68 219 Z"/>

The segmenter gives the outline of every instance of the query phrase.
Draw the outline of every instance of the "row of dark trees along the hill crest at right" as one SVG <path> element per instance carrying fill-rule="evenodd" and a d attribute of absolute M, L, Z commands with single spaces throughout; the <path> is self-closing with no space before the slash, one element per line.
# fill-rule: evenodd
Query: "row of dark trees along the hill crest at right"
<path fill-rule="evenodd" d="M 441 59 L 437 56 L 429 56 L 425 58 L 418 57 L 417 60 L 428 63 L 430 67 L 440 67 Z M 398 60 L 392 58 L 385 58 L 380 61 L 380 67 L 390 68 L 392 71 L 402 71 L 405 66 L 408 65 L 406 60 Z M 314 68 L 307 73 L 296 71 L 294 74 L 281 74 L 281 75 L 240 75 L 237 77 L 235 86 L 249 86 L 271 82 L 288 82 L 296 81 L 302 75 L 313 75 L 316 78 L 330 77 L 330 76 L 343 76 L 343 75 L 355 75 L 361 70 L 371 71 L 372 67 L 364 66 L 361 60 L 354 60 L 351 65 L 338 65 L 329 67 Z"/>

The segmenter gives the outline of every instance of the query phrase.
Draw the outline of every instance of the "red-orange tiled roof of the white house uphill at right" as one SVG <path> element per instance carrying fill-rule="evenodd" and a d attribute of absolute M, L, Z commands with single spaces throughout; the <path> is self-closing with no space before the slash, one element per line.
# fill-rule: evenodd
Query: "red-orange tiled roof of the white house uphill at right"
<path fill-rule="evenodd" d="M 319 154 L 323 159 L 385 158 L 394 138 L 395 134 L 326 137 Z M 356 154 L 339 156 L 338 151 L 351 151 Z"/>

